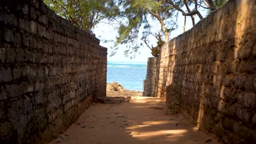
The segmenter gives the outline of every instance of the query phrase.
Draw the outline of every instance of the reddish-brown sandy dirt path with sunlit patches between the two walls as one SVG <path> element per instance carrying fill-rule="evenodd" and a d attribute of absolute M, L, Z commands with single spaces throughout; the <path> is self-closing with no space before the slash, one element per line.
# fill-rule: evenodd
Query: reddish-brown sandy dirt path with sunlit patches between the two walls
<path fill-rule="evenodd" d="M 132 97 L 129 103 L 96 104 L 52 143 L 218 143 L 182 114 L 165 115 L 157 98 Z M 207 142 L 206 142 L 207 141 Z"/>

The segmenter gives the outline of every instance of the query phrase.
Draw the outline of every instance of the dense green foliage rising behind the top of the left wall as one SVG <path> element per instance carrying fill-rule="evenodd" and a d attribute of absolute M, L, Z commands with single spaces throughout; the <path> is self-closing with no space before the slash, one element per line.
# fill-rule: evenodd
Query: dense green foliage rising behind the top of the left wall
<path fill-rule="evenodd" d="M 118 10 L 114 0 L 44 0 L 44 3 L 57 15 L 86 31 L 92 31 L 101 20 Z"/>

